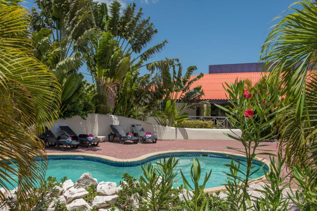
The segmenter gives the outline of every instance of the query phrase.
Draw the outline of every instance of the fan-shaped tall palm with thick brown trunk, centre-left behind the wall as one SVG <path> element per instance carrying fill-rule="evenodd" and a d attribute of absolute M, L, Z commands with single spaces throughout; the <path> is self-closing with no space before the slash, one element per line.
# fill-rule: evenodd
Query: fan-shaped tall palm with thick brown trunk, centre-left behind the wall
<path fill-rule="evenodd" d="M 134 74 L 133 71 L 139 70 L 142 67 L 146 67 L 153 73 L 156 69 L 160 70 L 164 65 L 172 65 L 175 60 L 178 60 L 164 59 L 145 63 L 148 59 L 154 57 L 156 53 L 161 52 L 167 40 L 144 50 L 150 44 L 154 35 L 158 33 L 157 29 L 150 22 L 150 18 L 143 18 L 142 9 L 139 9 L 138 12 L 135 11 L 135 3 L 129 4 L 122 14 L 120 14 L 120 7 L 121 4 L 118 1 L 113 1 L 109 5 L 109 11 L 105 3 L 99 5 L 98 12 L 94 14 L 95 19 L 98 19 L 98 22 L 96 21 L 97 32 L 88 41 L 90 51 L 87 56 L 87 66 L 96 79 L 99 107 L 102 107 L 101 111 L 114 109 L 117 90 L 124 83 L 121 79 L 124 79 L 127 74 L 132 75 Z M 106 74 L 100 80 L 101 76 L 97 74 L 97 69 L 99 68 L 98 52 L 100 52 L 101 47 L 104 48 L 100 46 L 100 43 L 105 39 L 105 34 L 107 36 L 108 34 L 112 34 L 113 40 L 111 42 L 115 43 L 116 48 L 122 54 L 122 58 L 126 58 L 125 62 L 128 62 L 128 65 L 122 74 L 121 72 L 119 75 Z M 110 60 L 103 62 L 110 62 Z M 107 64 L 107 66 L 111 65 L 113 64 Z M 103 88 L 98 89 L 101 86 Z"/>

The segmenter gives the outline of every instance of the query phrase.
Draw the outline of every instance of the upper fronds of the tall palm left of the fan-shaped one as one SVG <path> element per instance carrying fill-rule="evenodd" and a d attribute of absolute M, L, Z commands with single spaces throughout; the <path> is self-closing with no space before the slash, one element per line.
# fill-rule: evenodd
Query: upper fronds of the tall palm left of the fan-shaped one
<path fill-rule="evenodd" d="M 31 10 L 30 27 L 39 32 L 42 28 L 52 31 L 51 40 L 62 49 L 60 61 L 75 55 L 87 53 L 87 42 L 96 27 L 94 10 L 97 2 L 92 0 L 36 0 L 38 9 Z"/>

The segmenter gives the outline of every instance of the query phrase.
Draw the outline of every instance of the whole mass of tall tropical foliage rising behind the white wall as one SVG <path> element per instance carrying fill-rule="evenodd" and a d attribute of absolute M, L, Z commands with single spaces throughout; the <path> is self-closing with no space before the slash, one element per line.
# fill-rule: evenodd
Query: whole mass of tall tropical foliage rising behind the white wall
<path fill-rule="evenodd" d="M 80 115 L 85 118 L 85 114 L 94 109 L 96 113 L 142 120 L 155 116 L 162 124 L 170 118 L 171 125 L 185 118 L 181 114 L 187 104 L 175 108 L 179 83 L 175 87 L 168 87 L 171 83 L 160 84 L 163 78 L 172 80 L 168 71 L 173 66 L 175 69 L 178 59 L 147 62 L 164 49 L 167 40 L 148 47 L 158 30 L 150 17 L 143 17 L 142 8 L 137 10 L 132 3 L 121 13 L 118 1 L 109 5 L 90 0 L 36 1 L 36 4 L 39 11 L 32 8 L 30 22 L 35 56 L 54 72 L 61 85 L 60 117 Z M 86 82 L 79 73 L 84 63 L 95 84 L 92 92 L 85 92 Z M 140 76 L 142 68 L 150 72 Z M 195 67 L 191 69 L 184 77 L 190 76 Z M 178 74 L 182 76 L 181 68 Z M 178 80 L 187 82 L 187 79 Z M 199 96 L 194 96 L 197 92 L 203 94 L 199 88 L 190 92 L 189 86 L 182 86 L 184 102 L 198 99 Z M 165 89 L 169 93 L 165 93 Z M 174 98 L 170 98 L 174 91 Z M 168 99 L 161 101 L 165 94 Z M 91 109 L 81 106 L 83 99 L 88 98 L 94 103 Z M 167 103 L 167 109 L 157 109 L 163 102 Z"/>

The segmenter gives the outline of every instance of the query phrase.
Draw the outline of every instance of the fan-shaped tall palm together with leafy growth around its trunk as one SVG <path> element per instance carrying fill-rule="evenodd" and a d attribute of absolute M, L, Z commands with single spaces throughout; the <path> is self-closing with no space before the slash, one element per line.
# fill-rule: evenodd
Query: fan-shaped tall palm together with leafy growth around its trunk
<path fill-rule="evenodd" d="M 109 10 L 105 3 L 98 5 L 98 8 L 95 17 L 98 17 L 99 21 L 96 22 L 96 33 L 94 39 L 90 40 L 91 48 L 87 57 L 88 69 L 94 76 L 97 86 L 97 112 L 109 113 L 113 110 L 114 114 L 129 116 L 131 109 L 127 107 L 137 104 L 139 98 L 133 98 L 131 95 L 133 92 L 130 91 L 134 88 L 128 80 L 133 77 L 137 81 L 142 81 L 147 77 L 139 78 L 136 71 L 140 68 L 146 67 L 153 72 L 155 69 L 161 69 L 163 65 L 173 64 L 177 59 L 144 64 L 165 47 L 167 40 L 145 49 L 158 30 L 150 22 L 150 17 L 143 18 L 142 8 L 138 12 L 135 11 L 135 3 L 127 5 L 122 14 L 118 1 L 113 1 L 109 5 Z M 132 86 L 135 85 L 137 84 Z M 116 96 L 122 86 L 125 86 L 123 91 L 130 92 L 126 93 L 130 105 L 128 102 L 124 104 L 122 98 Z"/>

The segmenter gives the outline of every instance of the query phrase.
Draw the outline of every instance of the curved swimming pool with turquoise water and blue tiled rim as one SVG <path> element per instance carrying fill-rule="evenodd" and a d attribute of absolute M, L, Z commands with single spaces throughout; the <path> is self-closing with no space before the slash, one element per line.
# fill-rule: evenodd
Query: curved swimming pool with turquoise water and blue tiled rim
<path fill-rule="evenodd" d="M 93 156 L 77 156 L 77 155 L 49 155 L 49 165 L 46 172 L 47 176 L 56 177 L 58 180 L 63 176 L 67 176 L 73 182 L 76 181 L 83 173 L 89 172 L 94 178 L 97 178 L 98 182 L 109 181 L 116 182 L 117 184 L 122 180 L 122 174 L 129 173 L 133 177 L 139 178 L 142 175 L 140 164 L 147 162 L 158 162 L 160 158 L 176 157 L 178 159 L 178 172 L 181 169 L 188 180 L 190 180 L 191 164 L 195 157 L 198 158 L 201 165 L 201 183 L 203 183 L 204 175 L 212 169 L 211 176 L 206 184 L 206 188 L 221 186 L 225 183 L 227 175 L 224 172 L 229 172 L 229 168 L 225 166 L 231 162 L 228 159 L 227 154 L 224 153 L 211 153 L 211 152 L 171 152 L 157 154 L 144 158 L 139 161 L 132 162 L 118 162 L 112 161 L 100 157 Z M 242 156 L 234 156 L 236 159 L 244 161 Z M 262 166 L 263 163 L 258 160 L 254 160 L 254 164 Z M 246 168 L 241 166 L 242 171 Z M 255 168 L 256 169 L 256 168 Z M 268 170 L 268 166 L 265 164 L 264 169 Z M 251 179 L 261 177 L 264 175 L 264 171 L 256 172 Z M 178 183 L 182 184 L 181 174 L 178 173 L 176 177 L 179 179 Z M 175 184 L 176 185 L 176 184 Z M 13 189 L 13 187 L 12 187 Z"/>

